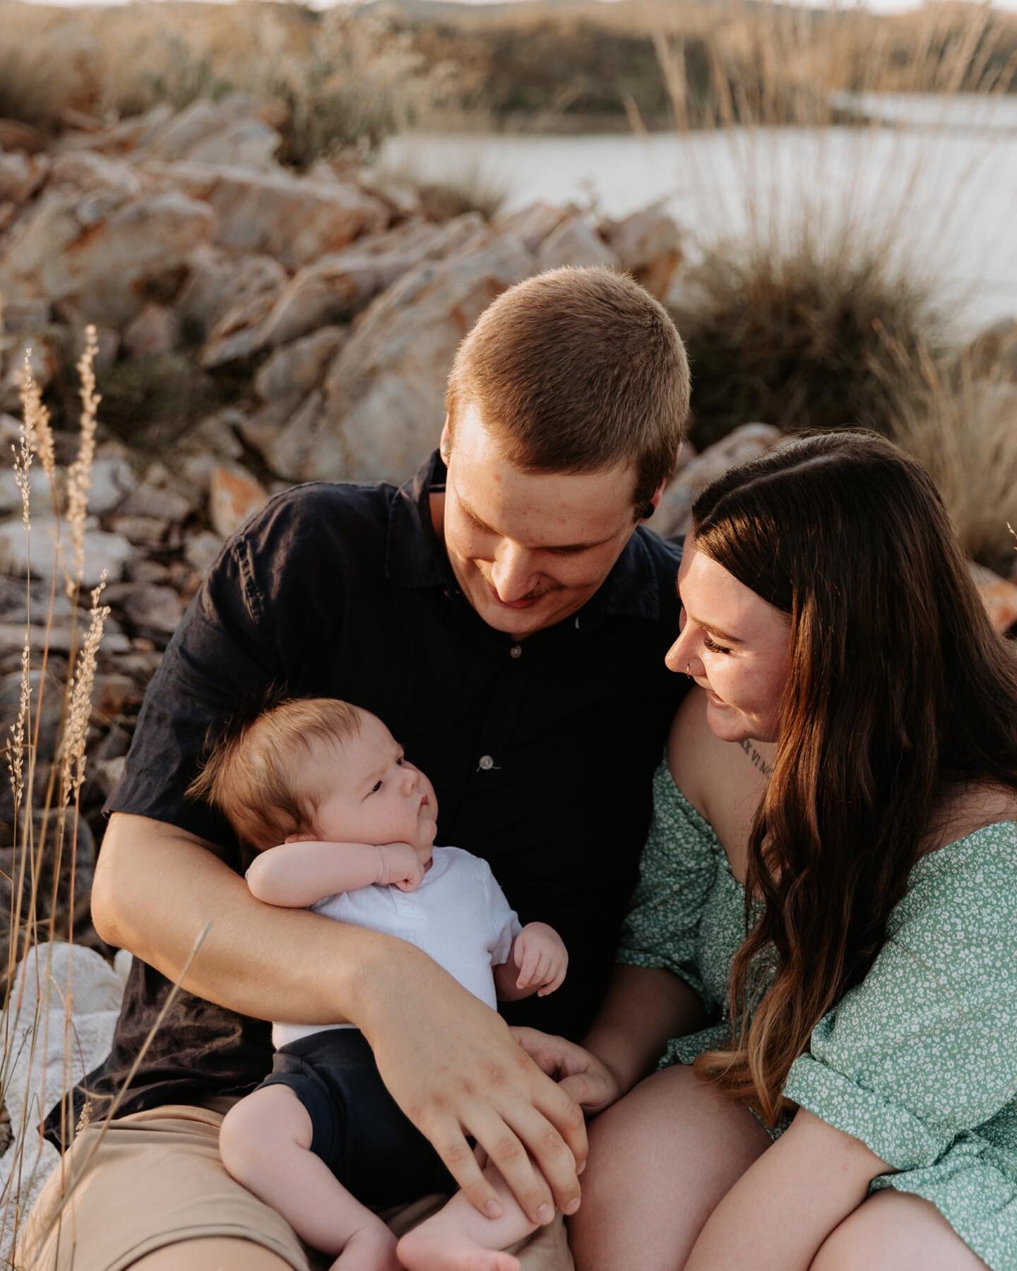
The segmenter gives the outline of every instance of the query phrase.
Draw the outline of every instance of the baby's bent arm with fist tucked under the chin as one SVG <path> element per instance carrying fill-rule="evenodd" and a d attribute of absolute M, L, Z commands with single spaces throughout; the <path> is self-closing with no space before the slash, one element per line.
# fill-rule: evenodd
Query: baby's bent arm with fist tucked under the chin
<path fill-rule="evenodd" d="M 422 878 L 423 864 L 408 843 L 323 843 L 299 835 L 262 852 L 247 872 L 253 896 L 286 909 L 371 883 L 413 891 Z"/>

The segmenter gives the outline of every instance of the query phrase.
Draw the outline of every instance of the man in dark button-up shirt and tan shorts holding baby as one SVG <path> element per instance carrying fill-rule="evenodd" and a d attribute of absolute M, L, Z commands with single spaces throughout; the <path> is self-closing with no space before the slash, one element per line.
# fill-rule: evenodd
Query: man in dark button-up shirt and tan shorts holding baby
<path fill-rule="evenodd" d="M 505 1022 L 412 946 L 258 904 L 229 827 L 183 792 L 210 728 L 272 693 L 376 713 L 435 783 L 439 841 L 489 860 L 520 920 L 566 942 L 562 989 L 506 1018 L 580 1037 L 679 693 L 664 667 L 678 549 L 638 522 L 671 475 L 688 399 L 681 341 L 647 292 L 606 269 L 552 271 L 500 296 L 463 342 L 440 455 L 411 483 L 297 487 L 226 545 L 109 802 L 93 915 L 135 965 L 86 1118 L 165 1016 L 119 1120 L 94 1155 L 90 1126 L 69 1158 L 84 1174 L 62 1221 L 79 1271 L 308 1266 L 216 1150 L 221 1116 L 270 1068 L 268 1019 L 356 1023 L 482 1211 L 497 1202 L 468 1139 L 534 1221 L 575 1210 L 582 1116 Z M 58 1186 L 29 1223 L 32 1265 L 70 1266 L 69 1238 L 57 1249 L 52 1234 Z M 562 1246 L 558 1225 L 524 1265 L 567 1267 Z"/>

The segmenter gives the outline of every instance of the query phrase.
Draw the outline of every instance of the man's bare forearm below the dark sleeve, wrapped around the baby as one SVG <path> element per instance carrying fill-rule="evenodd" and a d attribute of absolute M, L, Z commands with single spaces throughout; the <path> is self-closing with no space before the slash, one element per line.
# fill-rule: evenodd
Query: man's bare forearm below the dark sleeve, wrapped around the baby
<path fill-rule="evenodd" d="M 423 957 L 393 937 L 264 905 L 211 845 L 123 813 L 99 854 L 93 920 L 103 939 L 170 980 L 210 924 L 183 988 L 259 1019 L 360 1024 L 381 961 L 404 957 L 408 970 Z"/>

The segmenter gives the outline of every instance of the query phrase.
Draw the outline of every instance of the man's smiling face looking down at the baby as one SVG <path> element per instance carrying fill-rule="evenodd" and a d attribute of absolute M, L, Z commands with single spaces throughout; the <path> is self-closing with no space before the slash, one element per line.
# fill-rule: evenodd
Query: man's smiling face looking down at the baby
<path fill-rule="evenodd" d="M 634 480 L 628 466 L 520 472 L 465 405 L 450 441 L 442 534 L 459 586 L 488 627 L 522 639 L 585 605 L 636 527 Z"/>

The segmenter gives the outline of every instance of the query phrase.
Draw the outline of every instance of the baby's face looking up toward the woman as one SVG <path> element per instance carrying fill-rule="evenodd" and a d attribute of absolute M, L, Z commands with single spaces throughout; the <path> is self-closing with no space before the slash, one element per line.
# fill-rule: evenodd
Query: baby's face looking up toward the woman
<path fill-rule="evenodd" d="M 324 843 L 408 843 L 427 864 L 437 833 L 430 780 L 403 755 L 381 721 L 361 712 L 360 737 L 322 742 L 301 769 L 308 789 L 328 791 L 314 838 Z"/>

